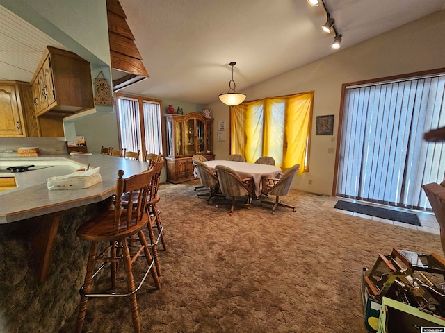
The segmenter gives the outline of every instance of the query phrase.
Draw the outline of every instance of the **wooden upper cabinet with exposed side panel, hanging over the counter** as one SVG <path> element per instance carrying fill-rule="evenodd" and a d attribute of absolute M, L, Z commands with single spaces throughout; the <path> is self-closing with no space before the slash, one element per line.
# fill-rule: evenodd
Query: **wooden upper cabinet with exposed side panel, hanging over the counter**
<path fill-rule="evenodd" d="M 67 117 L 94 108 L 90 63 L 48 46 L 31 80 L 35 114 Z"/>

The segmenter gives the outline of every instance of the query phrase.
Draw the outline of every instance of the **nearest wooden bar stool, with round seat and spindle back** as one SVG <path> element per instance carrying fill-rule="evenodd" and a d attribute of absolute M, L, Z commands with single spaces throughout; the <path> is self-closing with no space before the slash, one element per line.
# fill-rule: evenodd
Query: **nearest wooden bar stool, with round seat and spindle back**
<path fill-rule="evenodd" d="M 119 170 L 119 177 L 116 182 L 114 209 L 99 214 L 99 216 L 83 223 L 77 229 L 77 236 L 90 241 L 91 246 L 88 255 L 85 282 L 79 291 L 81 294 L 81 302 L 77 316 L 76 333 L 81 332 L 88 300 L 94 297 L 129 297 L 133 318 L 133 330 L 139 333 L 140 321 L 136 291 L 142 287 L 150 271 L 156 289 L 161 288 L 154 259 L 150 253 L 143 232 L 143 228 L 147 228 L 147 224 L 151 223 L 145 207 L 149 191 L 148 187 L 150 182 L 152 182 L 154 169 L 149 169 L 149 171 L 139 173 L 129 178 L 122 178 L 123 175 L 124 171 Z M 122 209 L 122 194 L 127 194 L 135 198 L 134 203 L 133 201 L 127 203 L 126 209 Z M 139 246 L 131 246 L 130 248 L 129 239 L 136 237 L 136 235 Z M 105 250 L 102 250 L 99 244 L 104 244 L 106 247 Z M 142 275 L 142 277 L 138 278 L 138 287 L 135 287 L 132 267 L 136 259 L 145 259 L 147 264 L 145 272 L 138 274 Z M 116 291 L 116 278 L 120 262 L 123 262 L 125 267 L 127 292 Z M 97 264 L 100 264 L 98 268 L 96 267 Z M 111 266 L 111 288 L 115 292 L 99 293 L 93 291 L 93 279 L 106 264 L 110 264 Z"/>

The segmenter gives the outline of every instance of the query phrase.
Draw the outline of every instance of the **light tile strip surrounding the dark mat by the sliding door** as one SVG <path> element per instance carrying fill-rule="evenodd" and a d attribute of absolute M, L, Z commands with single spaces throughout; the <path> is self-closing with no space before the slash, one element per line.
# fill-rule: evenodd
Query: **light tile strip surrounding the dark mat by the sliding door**
<path fill-rule="evenodd" d="M 327 198 L 327 200 L 326 200 L 326 202 L 324 203 L 323 206 L 334 209 L 334 205 L 337 203 L 338 200 L 345 200 L 345 201 L 347 201 L 348 199 L 331 196 L 331 197 Z M 366 202 L 362 202 L 362 201 L 359 201 L 359 200 L 350 200 L 350 201 L 353 201 L 353 202 L 356 202 L 356 203 L 362 203 L 364 205 L 373 205 L 372 203 L 366 203 Z M 360 216 L 360 217 L 362 217 L 364 219 L 371 219 L 373 221 L 379 221 L 379 222 L 382 222 L 382 223 L 389 223 L 389 224 L 394 224 L 394 225 L 400 225 L 401 227 L 405 227 L 405 228 L 411 228 L 411 229 L 415 229 L 415 230 L 431 232 L 432 234 L 439 234 L 439 224 L 437 223 L 436 216 L 432 212 L 422 212 L 422 211 L 419 211 L 419 210 L 406 210 L 406 209 L 403 209 L 403 208 L 389 207 L 389 206 L 379 205 L 379 204 L 374 204 L 374 206 L 376 206 L 376 207 L 383 207 L 383 208 L 391 208 L 391 209 L 394 209 L 394 210 L 401 210 L 403 212 L 414 213 L 417 216 L 419 216 L 419 220 L 420 220 L 421 226 L 418 227 L 416 225 L 410 225 L 410 224 L 402 223 L 402 222 L 398 222 L 398 221 L 391 221 L 391 220 L 387 220 L 387 219 L 381 219 L 380 217 L 369 216 L 369 215 L 359 214 L 359 213 L 355 213 L 355 212 L 349 212 L 347 210 L 337 210 L 337 209 L 335 209 L 335 210 L 337 212 L 339 212 L 339 213 L 342 213 L 342 214 L 349 214 L 349 215 L 353 215 L 353 216 Z"/>

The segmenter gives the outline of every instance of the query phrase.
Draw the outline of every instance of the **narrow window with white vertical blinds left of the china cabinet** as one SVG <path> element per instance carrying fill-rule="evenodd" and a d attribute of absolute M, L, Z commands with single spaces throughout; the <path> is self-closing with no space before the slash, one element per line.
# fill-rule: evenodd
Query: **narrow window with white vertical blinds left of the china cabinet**
<path fill-rule="evenodd" d="M 161 101 L 120 94 L 117 101 L 120 148 L 162 153 Z"/>

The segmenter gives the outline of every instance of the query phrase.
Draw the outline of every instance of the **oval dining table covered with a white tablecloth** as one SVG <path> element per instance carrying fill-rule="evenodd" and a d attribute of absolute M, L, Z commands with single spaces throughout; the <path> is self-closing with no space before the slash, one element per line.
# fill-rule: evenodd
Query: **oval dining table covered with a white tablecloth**
<path fill-rule="evenodd" d="M 240 178 L 253 178 L 255 185 L 254 192 L 256 198 L 261 194 L 261 178 L 277 178 L 281 173 L 280 167 L 275 165 L 248 163 L 248 162 L 236 162 L 227 160 L 211 160 L 204 162 L 210 169 L 215 171 L 217 165 L 224 165 L 236 171 Z"/>

